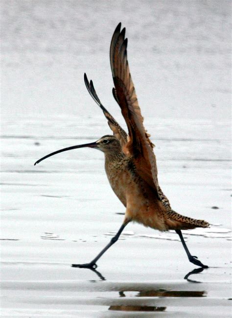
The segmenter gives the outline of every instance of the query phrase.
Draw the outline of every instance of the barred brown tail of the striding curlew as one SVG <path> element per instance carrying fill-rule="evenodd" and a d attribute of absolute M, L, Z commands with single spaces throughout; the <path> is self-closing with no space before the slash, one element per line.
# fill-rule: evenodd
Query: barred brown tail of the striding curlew
<path fill-rule="evenodd" d="M 185 217 L 173 210 L 166 212 L 167 219 L 166 222 L 168 224 L 169 229 L 173 230 L 187 230 L 193 229 L 196 227 L 209 227 L 209 223 L 204 220 L 196 220 Z"/>

